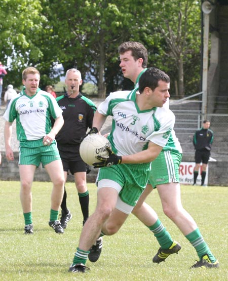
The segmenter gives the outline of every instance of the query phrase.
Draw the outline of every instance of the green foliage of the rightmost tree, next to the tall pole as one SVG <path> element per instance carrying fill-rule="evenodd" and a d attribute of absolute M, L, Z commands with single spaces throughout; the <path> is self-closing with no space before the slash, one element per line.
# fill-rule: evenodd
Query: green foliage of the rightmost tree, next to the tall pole
<path fill-rule="evenodd" d="M 171 77 L 171 94 L 174 82 L 184 81 L 183 92 L 187 95 L 199 92 L 201 19 L 200 3 L 192 0 L 154 3 L 150 28 L 160 35 L 160 55 L 157 66 Z M 153 35 L 152 35 L 153 36 Z M 159 39 L 159 38 L 158 38 Z M 183 73 L 178 71 L 183 67 Z"/>

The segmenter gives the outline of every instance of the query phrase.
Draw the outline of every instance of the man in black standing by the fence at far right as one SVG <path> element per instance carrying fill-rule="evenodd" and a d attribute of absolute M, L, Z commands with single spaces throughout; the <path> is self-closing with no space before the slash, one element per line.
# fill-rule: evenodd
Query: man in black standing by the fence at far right
<path fill-rule="evenodd" d="M 201 185 L 204 185 L 206 177 L 206 169 L 208 160 L 210 158 L 211 144 L 214 139 L 214 133 L 209 129 L 210 121 L 204 120 L 203 127 L 200 130 L 197 130 L 193 137 L 193 144 L 196 149 L 195 152 L 195 162 L 196 166 L 194 168 L 194 182 L 193 185 L 196 185 L 197 177 L 199 174 L 200 163 L 202 162 L 202 172 L 201 172 Z"/>

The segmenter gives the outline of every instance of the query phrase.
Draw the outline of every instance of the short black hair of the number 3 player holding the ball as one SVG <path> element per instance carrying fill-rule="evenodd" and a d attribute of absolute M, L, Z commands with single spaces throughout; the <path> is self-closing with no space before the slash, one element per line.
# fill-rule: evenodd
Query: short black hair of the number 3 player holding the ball
<path fill-rule="evenodd" d="M 158 87 L 159 81 L 170 83 L 170 77 L 159 68 L 150 67 L 146 69 L 146 71 L 143 72 L 141 77 L 139 78 L 139 93 L 141 94 L 144 91 L 145 87 L 149 87 L 154 91 L 155 88 Z"/>

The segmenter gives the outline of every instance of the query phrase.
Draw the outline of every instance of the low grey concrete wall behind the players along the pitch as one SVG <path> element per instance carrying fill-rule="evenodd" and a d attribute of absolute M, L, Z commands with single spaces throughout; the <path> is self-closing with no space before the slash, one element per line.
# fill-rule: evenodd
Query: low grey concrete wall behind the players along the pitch
<path fill-rule="evenodd" d="M 0 180 L 20 180 L 18 169 L 18 152 L 14 152 L 15 160 L 10 162 L 6 159 L 5 153 L 2 152 L 2 165 L 0 166 Z M 183 162 L 194 162 L 193 156 L 183 155 Z M 87 175 L 88 182 L 95 182 L 97 170 Z M 208 185 L 228 186 L 228 161 L 218 161 L 209 163 Z M 41 166 L 37 168 L 34 181 L 50 181 L 45 169 Z M 68 181 L 73 182 L 73 176 L 68 176 Z"/>

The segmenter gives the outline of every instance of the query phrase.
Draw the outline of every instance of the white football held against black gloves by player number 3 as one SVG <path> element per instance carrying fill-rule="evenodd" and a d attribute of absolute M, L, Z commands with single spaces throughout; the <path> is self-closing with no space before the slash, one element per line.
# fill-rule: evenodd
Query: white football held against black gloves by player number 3
<path fill-rule="evenodd" d="M 106 147 L 111 147 L 109 141 L 104 136 L 98 134 L 88 135 L 80 144 L 79 153 L 86 164 L 93 165 L 99 162 L 97 156 L 108 157 Z"/>

